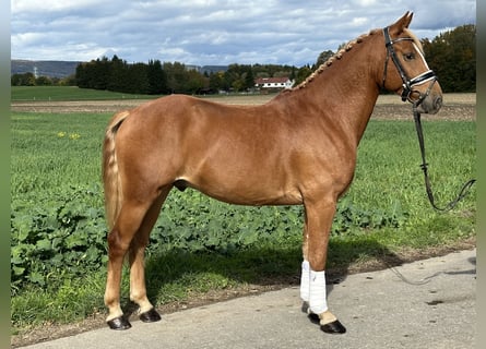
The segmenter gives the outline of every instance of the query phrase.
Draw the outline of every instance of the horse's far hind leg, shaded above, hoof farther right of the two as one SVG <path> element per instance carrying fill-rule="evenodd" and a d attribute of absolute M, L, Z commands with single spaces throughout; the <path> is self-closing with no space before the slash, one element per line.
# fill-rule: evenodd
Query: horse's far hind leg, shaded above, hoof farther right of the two
<path fill-rule="evenodd" d="M 142 225 L 133 237 L 129 249 L 130 300 L 140 306 L 140 320 L 143 322 L 156 322 L 161 320 L 161 315 L 146 297 L 144 254 L 145 248 L 149 244 L 150 233 L 169 191 L 170 186 L 164 189 L 158 198 L 152 204 L 143 218 Z"/>

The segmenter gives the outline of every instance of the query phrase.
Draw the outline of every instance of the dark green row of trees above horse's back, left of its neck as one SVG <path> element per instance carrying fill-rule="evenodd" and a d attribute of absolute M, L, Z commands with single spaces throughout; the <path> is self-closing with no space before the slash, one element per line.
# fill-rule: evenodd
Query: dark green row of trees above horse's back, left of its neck
<path fill-rule="evenodd" d="M 235 63 L 226 71 L 201 73 L 180 62 L 150 60 L 147 64 L 129 64 L 114 56 L 79 64 L 75 79 L 82 88 L 147 95 L 211 94 L 251 91 L 257 77 L 287 76 L 299 81 L 310 72 L 309 67 Z"/>

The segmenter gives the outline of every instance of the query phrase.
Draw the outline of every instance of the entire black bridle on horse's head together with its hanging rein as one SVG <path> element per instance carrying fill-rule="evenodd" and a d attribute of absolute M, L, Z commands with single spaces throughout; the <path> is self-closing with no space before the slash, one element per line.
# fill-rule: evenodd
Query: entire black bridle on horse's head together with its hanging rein
<path fill-rule="evenodd" d="M 414 112 L 414 120 L 415 120 L 415 128 L 417 130 L 417 136 L 418 136 L 418 144 L 420 146 L 420 154 L 422 154 L 422 165 L 420 168 L 424 171 L 424 178 L 425 178 L 425 189 L 427 192 L 427 196 L 428 200 L 431 204 L 431 206 L 436 209 L 436 210 L 440 210 L 440 212 L 444 212 L 444 210 L 450 210 L 452 208 L 455 207 L 455 205 L 466 195 L 467 190 L 476 182 L 475 179 L 472 179 L 470 181 L 467 181 L 461 189 L 461 191 L 459 192 L 457 198 L 454 198 L 453 201 L 451 201 L 450 203 L 448 203 L 444 207 L 438 207 L 435 203 L 434 200 L 434 194 L 432 194 L 432 190 L 431 190 L 431 185 L 430 185 L 430 180 L 428 177 L 428 172 L 427 172 L 427 161 L 425 159 L 425 145 L 424 145 L 424 133 L 422 131 L 422 122 L 420 122 L 420 112 L 418 112 L 418 106 L 424 101 L 425 98 L 427 98 L 427 96 L 430 94 L 430 91 L 434 86 L 434 84 L 437 82 L 437 76 L 434 73 L 434 71 L 431 71 L 428 65 L 427 62 L 425 61 L 424 56 L 422 55 L 420 50 L 418 49 L 418 47 L 415 45 L 415 40 L 412 37 L 400 37 L 396 38 L 394 40 L 392 40 L 392 38 L 390 37 L 390 33 L 388 27 L 383 28 L 383 35 L 384 35 L 384 46 L 387 47 L 387 59 L 384 61 L 384 71 L 383 71 L 383 81 L 381 83 L 381 87 L 384 88 L 384 82 L 387 80 L 387 71 L 388 71 L 388 61 L 390 60 L 390 57 L 393 61 L 393 63 L 396 67 L 396 70 L 399 71 L 400 76 L 402 77 L 402 100 L 408 100 L 410 103 L 412 103 L 413 105 L 413 112 Z M 393 44 L 399 43 L 399 41 L 403 41 L 403 40 L 411 40 L 412 44 L 414 45 L 416 51 L 418 52 L 418 55 L 420 55 L 422 60 L 424 61 L 425 67 L 427 68 L 427 71 L 425 71 L 424 73 L 413 77 L 413 79 L 408 79 L 405 70 L 403 69 L 402 63 L 400 63 L 400 60 L 396 57 L 396 52 L 393 49 Z M 429 82 L 429 86 L 427 87 L 427 91 L 425 93 L 420 93 L 419 91 L 414 91 L 414 86 L 416 85 L 422 85 L 426 82 Z M 413 93 L 417 93 L 418 94 L 418 98 L 416 100 L 412 99 L 412 94 Z"/>

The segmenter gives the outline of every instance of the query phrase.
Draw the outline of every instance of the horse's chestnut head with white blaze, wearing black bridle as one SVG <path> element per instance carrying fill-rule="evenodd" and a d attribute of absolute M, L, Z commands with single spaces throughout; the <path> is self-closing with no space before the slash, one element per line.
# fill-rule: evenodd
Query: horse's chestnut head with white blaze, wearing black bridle
<path fill-rule="evenodd" d="M 442 106 L 442 89 L 428 68 L 420 41 L 408 29 L 413 13 L 383 28 L 387 58 L 382 86 L 418 106 L 420 112 L 436 113 Z"/>

